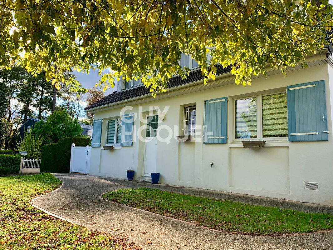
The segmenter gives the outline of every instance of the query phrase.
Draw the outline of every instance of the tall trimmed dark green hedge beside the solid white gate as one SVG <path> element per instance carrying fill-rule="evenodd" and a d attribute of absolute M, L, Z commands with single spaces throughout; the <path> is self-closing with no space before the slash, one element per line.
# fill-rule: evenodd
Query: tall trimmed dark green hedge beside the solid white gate
<path fill-rule="evenodd" d="M 41 173 L 69 173 L 71 160 L 71 145 L 87 146 L 90 138 L 67 137 L 58 143 L 45 144 L 42 149 Z"/>

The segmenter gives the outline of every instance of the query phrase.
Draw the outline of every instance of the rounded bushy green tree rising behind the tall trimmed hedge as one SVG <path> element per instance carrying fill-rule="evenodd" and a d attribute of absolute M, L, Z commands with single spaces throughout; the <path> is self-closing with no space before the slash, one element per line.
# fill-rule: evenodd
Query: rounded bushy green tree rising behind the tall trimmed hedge
<path fill-rule="evenodd" d="M 65 109 L 55 111 L 46 122 L 35 123 L 31 133 L 41 136 L 44 143 L 56 143 L 59 139 L 71 136 L 81 136 L 83 129 L 77 119 L 72 119 Z"/>

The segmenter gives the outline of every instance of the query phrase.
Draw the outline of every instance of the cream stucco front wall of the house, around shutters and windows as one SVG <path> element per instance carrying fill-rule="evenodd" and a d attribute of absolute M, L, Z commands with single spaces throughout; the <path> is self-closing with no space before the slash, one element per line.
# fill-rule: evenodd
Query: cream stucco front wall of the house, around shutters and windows
<path fill-rule="evenodd" d="M 263 149 L 245 149 L 233 141 L 234 98 L 250 97 L 261 93 L 284 91 L 286 86 L 325 80 L 328 130 L 332 131 L 331 103 L 333 70 L 327 64 L 307 69 L 273 74 L 268 78 L 253 79 L 251 86 L 237 86 L 232 79 L 220 79 L 206 86 L 193 86 L 184 90 L 167 92 L 156 99 L 141 100 L 126 113 L 148 112 L 150 106 L 169 109 L 160 123 L 173 128 L 180 125 L 181 106 L 195 103 L 196 124 L 203 124 L 204 100 L 228 97 L 227 144 L 203 144 L 198 142 L 158 142 L 156 172 L 161 173 L 160 182 L 188 187 L 213 189 L 227 192 L 285 198 L 303 202 L 333 205 L 333 144 L 332 133 L 328 141 L 314 142 L 266 142 Z M 95 113 L 95 119 L 103 118 L 102 146 L 105 144 L 106 126 L 109 118 L 119 117 L 125 105 Z M 136 130 L 143 123 L 136 119 Z M 176 130 L 178 135 L 179 129 Z M 166 137 L 167 131 L 161 130 Z M 197 136 L 200 137 L 199 135 Z M 133 146 L 112 151 L 92 148 L 90 174 L 126 178 L 125 170 L 132 168 L 136 177 L 143 174 L 144 142 L 136 140 Z M 211 162 L 213 166 L 211 167 Z M 305 190 L 304 181 L 319 182 L 319 190 Z"/>

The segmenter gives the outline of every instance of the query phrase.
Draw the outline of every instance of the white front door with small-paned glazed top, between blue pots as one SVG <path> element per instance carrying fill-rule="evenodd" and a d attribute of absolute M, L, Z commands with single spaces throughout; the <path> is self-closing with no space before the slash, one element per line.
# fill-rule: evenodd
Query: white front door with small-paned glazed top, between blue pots
<path fill-rule="evenodd" d="M 156 172 L 158 115 L 147 116 L 144 176 Z"/>

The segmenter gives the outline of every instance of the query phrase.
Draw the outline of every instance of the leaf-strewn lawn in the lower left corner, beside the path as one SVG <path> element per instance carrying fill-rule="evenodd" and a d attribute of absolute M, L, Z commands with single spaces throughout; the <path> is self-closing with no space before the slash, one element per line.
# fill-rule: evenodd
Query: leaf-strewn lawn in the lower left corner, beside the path
<path fill-rule="evenodd" d="M 0 249 L 141 249 L 126 237 L 91 231 L 29 204 L 60 185 L 51 174 L 0 177 Z"/>

